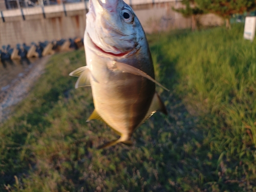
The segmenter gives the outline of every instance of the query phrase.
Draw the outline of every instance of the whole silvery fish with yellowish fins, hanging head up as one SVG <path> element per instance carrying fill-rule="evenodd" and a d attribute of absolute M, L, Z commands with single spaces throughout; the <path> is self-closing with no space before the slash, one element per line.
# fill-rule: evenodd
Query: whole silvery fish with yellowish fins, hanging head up
<path fill-rule="evenodd" d="M 90 0 L 84 31 L 86 63 L 71 72 L 75 88 L 91 86 L 94 111 L 87 121 L 108 124 L 132 145 L 134 131 L 155 112 L 167 115 L 156 92 L 154 66 L 145 32 L 133 9 L 122 0 Z"/>

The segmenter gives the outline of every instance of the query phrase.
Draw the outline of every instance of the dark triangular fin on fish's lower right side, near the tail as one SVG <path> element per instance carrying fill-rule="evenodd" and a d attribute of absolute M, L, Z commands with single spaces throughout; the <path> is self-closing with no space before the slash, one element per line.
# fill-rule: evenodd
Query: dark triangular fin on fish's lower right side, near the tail
<path fill-rule="evenodd" d="M 146 121 L 148 118 L 150 118 L 154 113 L 156 112 L 162 112 L 163 114 L 167 115 L 167 110 L 165 108 L 165 105 L 163 101 L 161 100 L 158 93 L 155 93 L 152 103 L 150 105 L 150 109 L 148 109 L 147 114 L 142 122 Z"/>

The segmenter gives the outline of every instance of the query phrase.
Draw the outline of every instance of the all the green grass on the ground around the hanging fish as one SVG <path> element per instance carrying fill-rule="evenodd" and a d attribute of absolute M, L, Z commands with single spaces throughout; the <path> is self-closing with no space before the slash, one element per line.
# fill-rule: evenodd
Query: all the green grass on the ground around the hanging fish
<path fill-rule="evenodd" d="M 168 116 L 134 146 L 92 113 L 90 88 L 68 74 L 83 50 L 54 55 L 0 129 L 0 191 L 256 191 L 256 51 L 243 26 L 148 36 Z"/>

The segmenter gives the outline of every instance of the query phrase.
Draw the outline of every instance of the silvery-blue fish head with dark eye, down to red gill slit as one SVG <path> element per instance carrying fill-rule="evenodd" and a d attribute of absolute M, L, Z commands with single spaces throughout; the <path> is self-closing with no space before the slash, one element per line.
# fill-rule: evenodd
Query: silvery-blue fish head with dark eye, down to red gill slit
<path fill-rule="evenodd" d="M 85 35 L 94 49 L 112 56 L 135 53 L 146 42 L 137 16 L 122 0 L 90 0 Z"/>

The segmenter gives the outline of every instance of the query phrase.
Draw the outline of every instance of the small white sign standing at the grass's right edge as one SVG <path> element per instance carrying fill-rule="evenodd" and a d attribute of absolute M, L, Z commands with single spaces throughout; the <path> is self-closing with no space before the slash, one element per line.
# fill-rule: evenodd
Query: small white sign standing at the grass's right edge
<path fill-rule="evenodd" d="M 253 41 L 255 36 L 256 16 L 245 17 L 244 38 Z"/>

